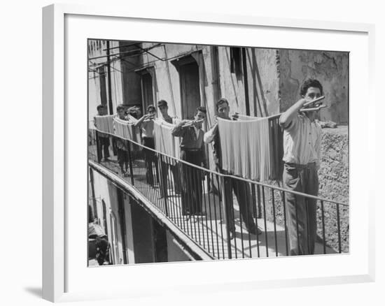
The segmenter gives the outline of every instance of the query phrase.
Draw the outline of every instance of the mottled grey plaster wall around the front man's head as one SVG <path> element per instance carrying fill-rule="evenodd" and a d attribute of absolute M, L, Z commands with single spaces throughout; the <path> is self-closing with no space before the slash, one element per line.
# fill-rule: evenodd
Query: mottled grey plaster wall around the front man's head
<path fill-rule="evenodd" d="M 307 78 L 323 85 L 325 105 L 320 119 L 347 124 L 349 54 L 347 52 L 279 50 L 281 112 L 300 99 L 300 86 Z"/>

